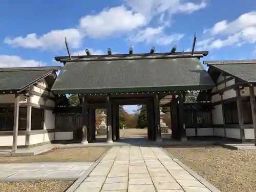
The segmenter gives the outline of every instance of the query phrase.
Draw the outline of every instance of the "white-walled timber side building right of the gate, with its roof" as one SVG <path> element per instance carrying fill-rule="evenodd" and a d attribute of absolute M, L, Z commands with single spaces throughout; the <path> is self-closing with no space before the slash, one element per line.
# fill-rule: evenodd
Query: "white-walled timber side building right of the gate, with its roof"
<path fill-rule="evenodd" d="M 256 60 L 204 61 L 216 86 L 199 94 L 212 104 L 212 135 L 254 142 Z M 254 122 L 253 122 L 254 121 Z"/>

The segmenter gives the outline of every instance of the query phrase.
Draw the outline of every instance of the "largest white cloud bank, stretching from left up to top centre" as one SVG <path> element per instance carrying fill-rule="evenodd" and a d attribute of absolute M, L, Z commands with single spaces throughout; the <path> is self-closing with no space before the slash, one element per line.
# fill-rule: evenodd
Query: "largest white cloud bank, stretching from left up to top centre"
<path fill-rule="evenodd" d="M 189 0 L 123 0 L 125 5 L 104 9 L 81 17 L 77 27 L 70 29 L 52 30 L 46 34 L 30 33 L 26 36 L 7 37 L 4 42 L 12 47 L 24 47 L 57 51 L 65 49 L 64 39 L 67 36 L 70 48 L 80 48 L 83 38 L 106 38 L 119 34 L 129 34 L 134 30 L 150 30 L 147 26 L 152 18 L 158 17 L 160 27 L 170 25 L 172 14 L 193 13 L 206 6 L 204 0 L 195 4 Z M 146 28 L 146 29 L 143 29 Z M 159 29 L 158 29 L 159 30 Z M 163 29 L 162 29 L 163 31 Z M 158 33 L 157 44 L 167 44 L 180 36 Z M 180 34 L 178 34 L 180 35 Z M 140 38 L 142 39 L 142 38 Z M 166 40 L 165 40 L 166 39 Z M 147 40 L 147 38 L 145 38 Z"/>

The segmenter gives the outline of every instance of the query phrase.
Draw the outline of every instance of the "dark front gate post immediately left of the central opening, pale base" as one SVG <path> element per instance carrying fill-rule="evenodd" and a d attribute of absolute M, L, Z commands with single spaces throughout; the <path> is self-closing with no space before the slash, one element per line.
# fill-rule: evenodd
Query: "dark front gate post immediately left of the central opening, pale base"
<path fill-rule="evenodd" d="M 111 103 L 111 98 L 110 95 L 108 94 L 106 96 L 106 142 L 107 143 L 113 143 L 112 140 L 112 103 Z"/>

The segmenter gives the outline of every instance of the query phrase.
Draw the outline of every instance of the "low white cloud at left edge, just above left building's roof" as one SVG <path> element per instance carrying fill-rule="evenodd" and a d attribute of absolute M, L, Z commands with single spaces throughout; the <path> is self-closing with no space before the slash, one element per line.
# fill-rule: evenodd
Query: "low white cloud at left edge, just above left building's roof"
<path fill-rule="evenodd" d="M 41 63 L 41 66 L 45 66 L 45 63 Z M 0 55 L 0 68 L 13 67 L 39 67 L 39 61 L 22 59 L 16 55 Z"/>

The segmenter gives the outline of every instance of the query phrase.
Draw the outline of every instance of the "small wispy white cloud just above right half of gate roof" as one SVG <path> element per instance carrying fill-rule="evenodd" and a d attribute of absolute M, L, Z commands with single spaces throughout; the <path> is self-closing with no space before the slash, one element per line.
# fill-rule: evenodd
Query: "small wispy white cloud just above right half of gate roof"
<path fill-rule="evenodd" d="M 146 42 L 147 44 L 169 45 L 173 41 L 178 41 L 184 36 L 183 34 L 167 35 L 163 30 L 163 27 L 148 27 L 136 34 L 133 34 L 130 37 L 130 40 L 133 42 Z"/>

